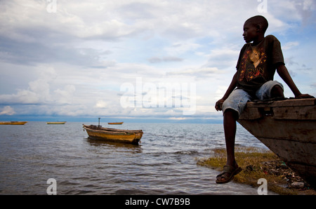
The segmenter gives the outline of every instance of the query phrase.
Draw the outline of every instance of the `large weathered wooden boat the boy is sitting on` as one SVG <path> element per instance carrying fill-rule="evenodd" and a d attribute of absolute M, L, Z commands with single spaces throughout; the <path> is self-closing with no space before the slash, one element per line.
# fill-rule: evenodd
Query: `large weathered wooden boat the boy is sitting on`
<path fill-rule="evenodd" d="M 316 187 L 316 99 L 248 102 L 238 122 Z"/>

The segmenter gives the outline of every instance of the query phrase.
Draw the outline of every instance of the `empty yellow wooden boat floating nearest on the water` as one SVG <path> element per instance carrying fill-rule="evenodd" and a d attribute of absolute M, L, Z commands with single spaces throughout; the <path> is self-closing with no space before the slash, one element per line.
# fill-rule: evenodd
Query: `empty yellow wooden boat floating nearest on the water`
<path fill-rule="evenodd" d="M 86 126 L 84 124 L 83 126 L 88 136 L 96 140 L 138 144 L 143 136 L 143 130 L 121 130 L 103 128 L 102 126 Z"/>

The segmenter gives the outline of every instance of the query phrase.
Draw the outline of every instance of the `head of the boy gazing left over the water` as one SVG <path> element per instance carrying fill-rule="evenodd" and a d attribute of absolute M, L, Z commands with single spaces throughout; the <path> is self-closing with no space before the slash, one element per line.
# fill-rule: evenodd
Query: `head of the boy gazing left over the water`
<path fill-rule="evenodd" d="M 249 18 L 244 22 L 244 40 L 246 43 L 254 41 L 258 36 L 264 36 L 268 29 L 268 20 L 261 15 Z"/>

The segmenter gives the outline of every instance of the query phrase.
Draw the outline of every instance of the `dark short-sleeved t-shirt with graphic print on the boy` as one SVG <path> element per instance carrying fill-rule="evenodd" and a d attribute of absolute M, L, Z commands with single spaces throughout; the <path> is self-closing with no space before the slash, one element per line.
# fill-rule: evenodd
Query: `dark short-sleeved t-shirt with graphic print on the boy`
<path fill-rule="evenodd" d="M 281 44 L 275 36 L 269 35 L 252 46 L 246 43 L 237 62 L 237 88 L 251 95 L 267 81 L 272 81 L 275 69 L 284 65 Z"/>

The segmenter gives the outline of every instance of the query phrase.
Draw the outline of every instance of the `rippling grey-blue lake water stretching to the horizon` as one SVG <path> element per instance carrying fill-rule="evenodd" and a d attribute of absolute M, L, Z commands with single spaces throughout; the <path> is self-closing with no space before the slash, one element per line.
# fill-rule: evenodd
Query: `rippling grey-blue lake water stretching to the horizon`
<path fill-rule="evenodd" d="M 47 194 L 50 178 L 57 194 L 257 194 L 244 184 L 216 184 L 218 171 L 197 166 L 225 147 L 222 124 L 101 125 L 144 134 L 137 146 L 90 140 L 82 123 L 0 126 L 0 194 Z M 242 126 L 236 144 L 267 149 Z"/>

